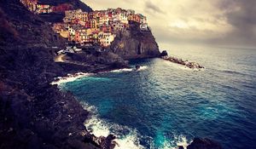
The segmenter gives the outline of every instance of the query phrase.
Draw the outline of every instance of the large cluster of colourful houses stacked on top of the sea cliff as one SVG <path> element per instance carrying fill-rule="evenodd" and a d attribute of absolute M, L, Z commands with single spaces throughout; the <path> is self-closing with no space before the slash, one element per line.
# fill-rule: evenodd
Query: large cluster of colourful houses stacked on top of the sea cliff
<path fill-rule="evenodd" d="M 140 24 L 141 30 L 148 30 L 147 18 L 135 14 L 134 10 L 107 9 L 90 13 L 78 10 L 65 11 L 63 23 L 54 25 L 54 31 L 75 43 L 99 43 L 108 47 L 118 32 L 129 30 L 129 21 Z"/>

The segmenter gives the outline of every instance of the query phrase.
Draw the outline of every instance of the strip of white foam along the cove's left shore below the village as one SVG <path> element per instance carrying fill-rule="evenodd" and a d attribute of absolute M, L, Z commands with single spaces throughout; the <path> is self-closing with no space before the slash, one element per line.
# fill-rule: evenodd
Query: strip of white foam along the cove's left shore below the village
<path fill-rule="evenodd" d="M 91 76 L 92 73 L 78 72 L 75 74 L 67 74 L 66 77 L 56 77 L 56 81 L 50 83 L 51 85 L 61 85 L 62 83 L 73 82 L 81 77 Z"/>

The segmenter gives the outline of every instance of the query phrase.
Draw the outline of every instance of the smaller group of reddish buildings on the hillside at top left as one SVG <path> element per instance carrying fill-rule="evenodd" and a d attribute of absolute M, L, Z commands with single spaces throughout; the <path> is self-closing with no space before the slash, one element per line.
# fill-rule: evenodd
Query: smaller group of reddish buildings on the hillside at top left
<path fill-rule="evenodd" d="M 68 3 L 63 3 L 58 6 L 50 6 L 49 4 L 39 3 L 38 0 L 20 0 L 20 3 L 23 3 L 27 9 L 35 14 L 57 13 L 72 9 L 72 6 Z"/>

